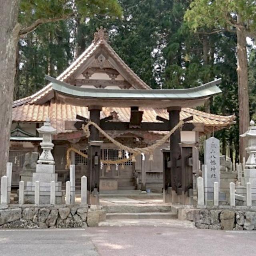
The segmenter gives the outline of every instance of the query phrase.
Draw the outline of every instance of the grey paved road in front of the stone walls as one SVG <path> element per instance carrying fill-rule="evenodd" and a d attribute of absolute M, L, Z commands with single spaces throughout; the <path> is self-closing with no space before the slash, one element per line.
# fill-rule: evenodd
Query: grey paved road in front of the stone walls
<path fill-rule="evenodd" d="M 255 256 L 256 232 L 161 227 L 0 230 L 0 256 Z"/>

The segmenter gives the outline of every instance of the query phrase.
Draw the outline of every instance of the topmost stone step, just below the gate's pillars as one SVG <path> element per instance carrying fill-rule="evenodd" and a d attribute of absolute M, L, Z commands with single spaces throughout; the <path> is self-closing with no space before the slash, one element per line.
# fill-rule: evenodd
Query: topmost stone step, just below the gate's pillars
<path fill-rule="evenodd" d="M 105 205 L 103 206 L 107 213 L 159 213 L 172 212 L 177 214 L 177 209 L 171 205 L 134 205 L 134 204 L 119 204 L 119 205 Z"/>

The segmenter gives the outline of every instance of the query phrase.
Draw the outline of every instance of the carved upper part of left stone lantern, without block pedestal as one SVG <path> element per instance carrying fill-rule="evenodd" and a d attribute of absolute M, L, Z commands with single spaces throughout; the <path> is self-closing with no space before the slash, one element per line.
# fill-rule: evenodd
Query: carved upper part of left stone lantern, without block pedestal
<path fill-rule="evenodd" d="M 40 143 L 43 152 L 37 161 L 38 164 L 55 164 L 51 150 L 54 147 L 52 135 L 56 134 L 56 129 L 51 126 L 50 119 L 46 118 L 44 125 L 36 130 L 43 137 L 43 141 Z"/>

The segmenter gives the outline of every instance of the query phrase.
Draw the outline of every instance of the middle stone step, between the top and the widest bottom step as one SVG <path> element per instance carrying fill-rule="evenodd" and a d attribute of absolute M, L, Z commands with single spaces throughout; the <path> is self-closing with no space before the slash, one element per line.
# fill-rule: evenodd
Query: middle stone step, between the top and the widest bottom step
<path fill-rule="evenodd" d="M 107 213 L 107 220 L 137 220 L 137 219 L 177 219 L 177 214 L 173 212 L 126 212 Z"/>

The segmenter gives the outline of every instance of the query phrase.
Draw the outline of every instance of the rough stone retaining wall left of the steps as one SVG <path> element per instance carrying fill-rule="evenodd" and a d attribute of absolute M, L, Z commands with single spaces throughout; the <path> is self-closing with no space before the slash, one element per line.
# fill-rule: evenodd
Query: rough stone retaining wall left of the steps
<path fill-rule="evenodd" d="M 0 210 L 0 228 L 82 228 L 106 220 L 100 207 L 9 206 Z"/>

